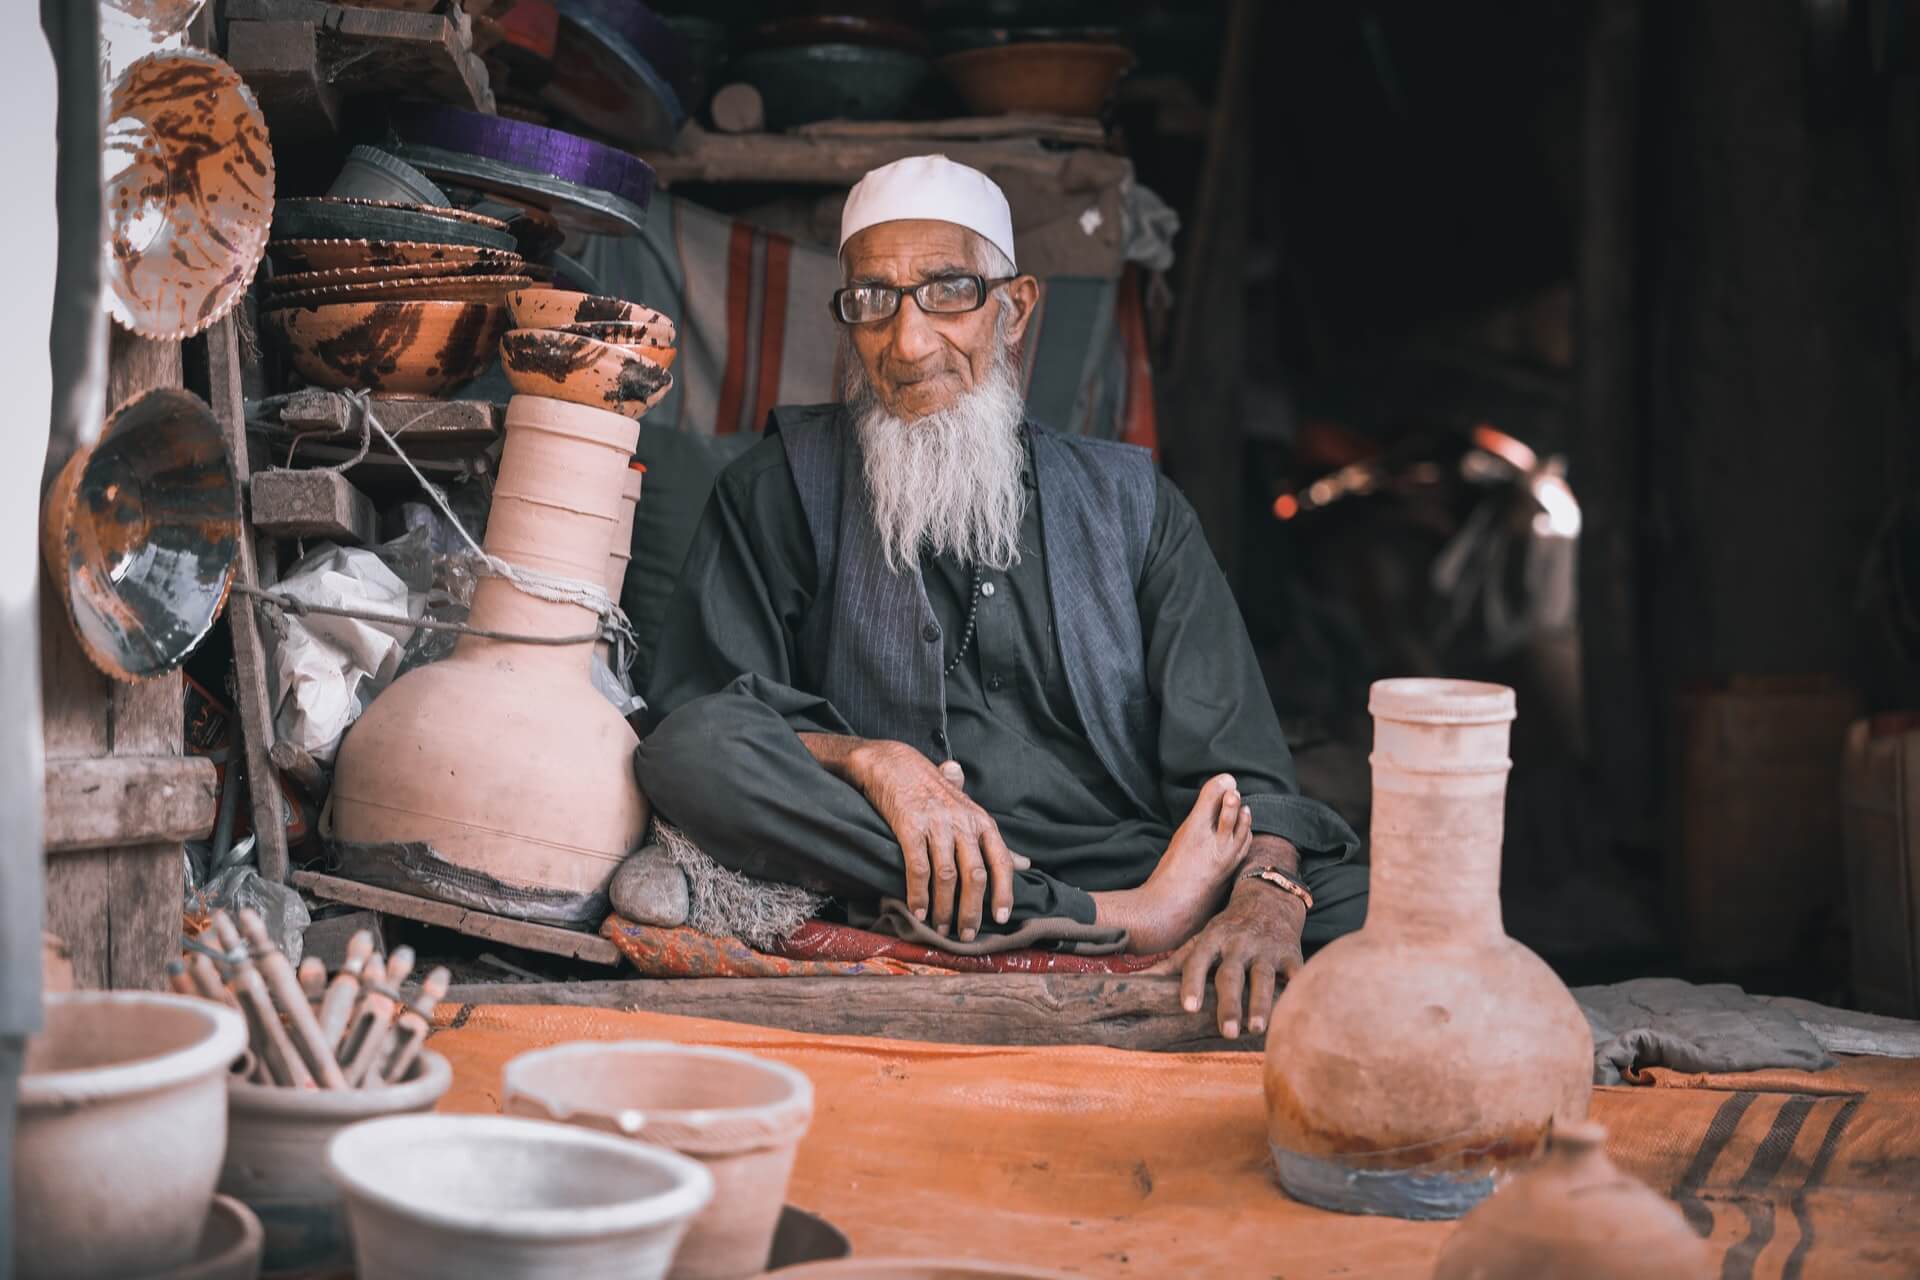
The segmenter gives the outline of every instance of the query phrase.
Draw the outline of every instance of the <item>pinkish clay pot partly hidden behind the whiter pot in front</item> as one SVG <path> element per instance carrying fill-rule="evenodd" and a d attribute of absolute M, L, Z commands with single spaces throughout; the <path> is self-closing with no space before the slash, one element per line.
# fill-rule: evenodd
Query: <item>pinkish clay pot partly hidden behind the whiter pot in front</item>
<path fill-rule="evenodd" d="M 707 1165 L 714 1201 L 687 1232 L 674 1280 L 733 1280 L 766 1267 L 814 1117 L 803 1073 L 735 1050 L 628 1040 L 520 1054 L 503 1088 L 509 1115 L 624 1134 Z"/>

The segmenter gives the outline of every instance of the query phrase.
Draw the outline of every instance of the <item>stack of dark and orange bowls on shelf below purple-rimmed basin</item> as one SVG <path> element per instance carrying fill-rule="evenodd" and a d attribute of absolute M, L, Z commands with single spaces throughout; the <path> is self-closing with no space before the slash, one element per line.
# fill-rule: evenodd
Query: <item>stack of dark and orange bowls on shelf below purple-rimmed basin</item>
<path fill-rule="evenodd" d="M 261 320 L 311 386 L 432 397 L 480 374 L 507 294 L 534 282 L 499 219 L 324 196 L 282 200 Z"/>

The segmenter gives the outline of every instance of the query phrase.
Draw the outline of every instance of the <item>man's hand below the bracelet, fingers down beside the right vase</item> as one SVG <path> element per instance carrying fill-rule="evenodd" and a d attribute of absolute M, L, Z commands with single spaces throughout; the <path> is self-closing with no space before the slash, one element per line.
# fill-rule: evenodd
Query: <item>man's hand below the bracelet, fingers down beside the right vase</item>
<path fill-rule="evenodd" d="M 1181 971 L 1181 1007 L 1188 1013 L 1200 1009 L 1206 975 L 1213 971 L 1219 1034 L 1233 1040 L 1240 1027 L 1256 1034 L 1265 1031 L 1277 983 L 1292 979 L 1306 963 L 1300 956 L 1306 923 L 1308 908 L 1300 898 L 1260 881 L 1238 881 L 1227 908 L 1167 965 Z"/>

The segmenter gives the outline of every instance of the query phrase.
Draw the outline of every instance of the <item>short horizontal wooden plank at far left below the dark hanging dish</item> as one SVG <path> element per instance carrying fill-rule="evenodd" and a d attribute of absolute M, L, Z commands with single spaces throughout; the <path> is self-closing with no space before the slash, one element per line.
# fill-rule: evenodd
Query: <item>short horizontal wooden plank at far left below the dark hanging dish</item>
<path fill-rule="evenodd" d="M 215 808 L 217 775 L 213 762 L 204 756 L 46 762 L 50 854 L 156 841 L 171 841 L 179 852 L 179 841 L 196 841 L 213 829 Z"/>

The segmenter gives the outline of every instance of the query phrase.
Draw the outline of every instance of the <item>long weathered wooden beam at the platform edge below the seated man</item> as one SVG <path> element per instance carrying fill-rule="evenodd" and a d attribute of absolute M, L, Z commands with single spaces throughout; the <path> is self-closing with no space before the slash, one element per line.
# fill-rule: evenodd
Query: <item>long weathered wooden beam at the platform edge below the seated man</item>
<path fill-rule="evenodd" d="M 442 1004 L 568 1004 L 645 1009 L 822 1036 L 935 1044 L 1104 1044 L 1119 1050 L 1261 1050 L 1223 1040 L 1213 994 L 1198 1013 L 1177 977 L 962 973 L 954 977 L 630 979 L 461 983 Z"/>

